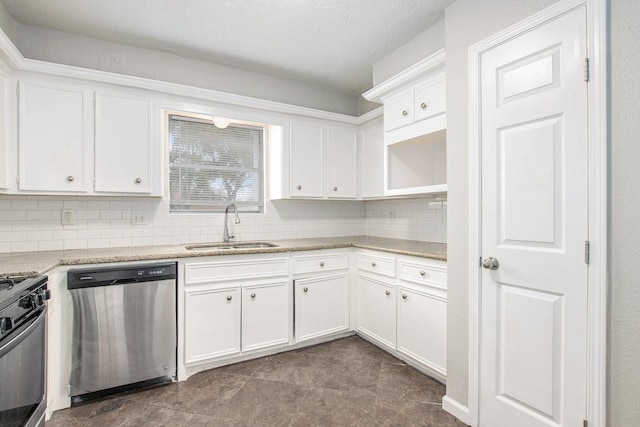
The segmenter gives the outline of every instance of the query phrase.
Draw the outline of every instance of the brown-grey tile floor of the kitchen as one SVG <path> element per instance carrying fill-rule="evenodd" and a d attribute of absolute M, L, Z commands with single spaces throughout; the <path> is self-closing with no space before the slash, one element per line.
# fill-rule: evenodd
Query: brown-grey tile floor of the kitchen
<path fill-rule="evenodd" d="M 464 426 L 445 388 L 359 337 L 57 411 L 46 427 Z"/>

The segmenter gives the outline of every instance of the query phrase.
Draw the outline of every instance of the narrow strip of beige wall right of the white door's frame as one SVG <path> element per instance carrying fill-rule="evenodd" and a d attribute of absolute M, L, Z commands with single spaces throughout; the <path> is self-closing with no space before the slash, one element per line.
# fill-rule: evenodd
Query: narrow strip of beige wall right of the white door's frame
<path fill-rule="evenodd" d="M 612 0 L 607 425 L 640 423 L 640 1 Z"/>

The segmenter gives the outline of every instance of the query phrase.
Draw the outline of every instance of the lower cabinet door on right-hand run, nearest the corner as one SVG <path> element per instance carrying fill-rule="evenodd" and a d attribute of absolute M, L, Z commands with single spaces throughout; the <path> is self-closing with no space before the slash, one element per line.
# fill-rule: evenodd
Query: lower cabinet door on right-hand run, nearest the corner
<path fill-rule="evenodd" d="M 358 331 L 396 348 L 396 287 L 392 283 L 358 277 Z"/>

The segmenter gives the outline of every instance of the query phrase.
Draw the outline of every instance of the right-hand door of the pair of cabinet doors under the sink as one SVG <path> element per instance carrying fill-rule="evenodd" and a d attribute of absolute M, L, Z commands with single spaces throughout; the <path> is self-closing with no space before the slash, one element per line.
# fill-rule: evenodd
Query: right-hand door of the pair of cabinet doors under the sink
<path fill-rule="evenodd" d="M 242 290 L 242 351 L 289 342 L 289 287 L 283 281 Z"/>

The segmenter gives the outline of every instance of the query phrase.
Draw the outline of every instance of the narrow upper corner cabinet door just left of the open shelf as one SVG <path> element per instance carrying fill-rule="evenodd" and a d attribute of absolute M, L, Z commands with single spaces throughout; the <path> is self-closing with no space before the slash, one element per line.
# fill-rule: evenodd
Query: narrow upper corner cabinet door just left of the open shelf
<path fill-rule="evenodd" d="M 362 197 L 384 196 L 384 129 L 382 121 L 362 129 L 362 169 L 360 182 Z"/>

